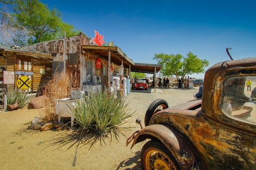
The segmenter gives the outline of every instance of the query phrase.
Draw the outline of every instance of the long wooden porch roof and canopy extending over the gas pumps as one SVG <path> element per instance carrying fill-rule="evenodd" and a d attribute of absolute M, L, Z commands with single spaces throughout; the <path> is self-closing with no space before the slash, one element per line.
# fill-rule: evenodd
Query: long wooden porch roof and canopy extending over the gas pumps
<path fill-rule="evenodd" d="M 154 73 L 155 68 L 158 72 L 162 65 L 157 64 L 144 64 L 144 63 L 134 63 L 119 47 L 113 46 L 91 46 L 91 45 L 82 45 L 82 50 L 87 52 L 92 52 L 98 54 L 100 57 L 108 59 L 109 51 L 111 52 L 111 62 L 118 65 L 122 64 L 125 68 L 131 66 L 131 71 L 133 72 L 143 72 L 143 73 Z"/>

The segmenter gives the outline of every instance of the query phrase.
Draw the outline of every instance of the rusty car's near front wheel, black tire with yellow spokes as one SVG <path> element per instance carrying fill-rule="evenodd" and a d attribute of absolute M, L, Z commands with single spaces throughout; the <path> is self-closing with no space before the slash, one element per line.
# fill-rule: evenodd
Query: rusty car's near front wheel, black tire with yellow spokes
<path fill-rule="evenodd" d="M 157 141 L 147 142 L 140 154 L 142 170 L 180 170 L 173 154 Z"/>

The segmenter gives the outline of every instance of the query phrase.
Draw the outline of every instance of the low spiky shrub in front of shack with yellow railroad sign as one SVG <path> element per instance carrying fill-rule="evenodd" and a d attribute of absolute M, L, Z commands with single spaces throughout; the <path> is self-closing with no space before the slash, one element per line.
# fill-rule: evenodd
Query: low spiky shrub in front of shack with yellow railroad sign
<path fill-rule="evenodd" d="M 1 101 L 4 102 L 4 95 L 6 95 L 7 104 L 18 103 L 19 108 L 24 108 L 30 101 L 28 92 L 15 88 L 14 91 L 7 92 L 3 90 L 1 93 Z"/>

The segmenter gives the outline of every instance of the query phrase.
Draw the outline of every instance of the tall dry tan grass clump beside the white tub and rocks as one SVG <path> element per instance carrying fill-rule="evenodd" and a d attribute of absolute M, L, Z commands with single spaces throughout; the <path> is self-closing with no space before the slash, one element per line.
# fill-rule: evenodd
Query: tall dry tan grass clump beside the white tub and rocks
<path fill-rule="evenodd" d="M 45 99 L 45 106 L 40 117 L 43 121 L 51 121 L 57 119 L 55 111 L 55 99 L 63 99 L 70 97 L 71 79 L 68 73 L 55 73 L 52 80 L 44 85 L 43 95 L 48 98 Z"/>

